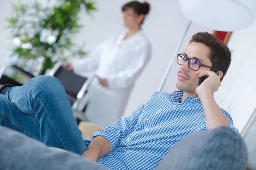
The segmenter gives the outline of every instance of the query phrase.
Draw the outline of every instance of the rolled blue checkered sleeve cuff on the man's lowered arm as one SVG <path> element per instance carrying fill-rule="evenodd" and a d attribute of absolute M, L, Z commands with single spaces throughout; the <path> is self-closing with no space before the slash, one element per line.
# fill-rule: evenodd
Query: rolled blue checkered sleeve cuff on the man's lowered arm
<path fill-rule="evenodd" d="M 103 136 L 105 137 L 108 142 L 111 144 L 111 151 L 113 149 L 115 149 L 118 145 L 119 145 L 119 138 L 116 136 L 116 134 L 114 132 L 112 132 L 111 130 L 99 130 L 97 132 L 93 133 L 93 137 L 92 140 L 96 137 L 96 136 Z"/>

